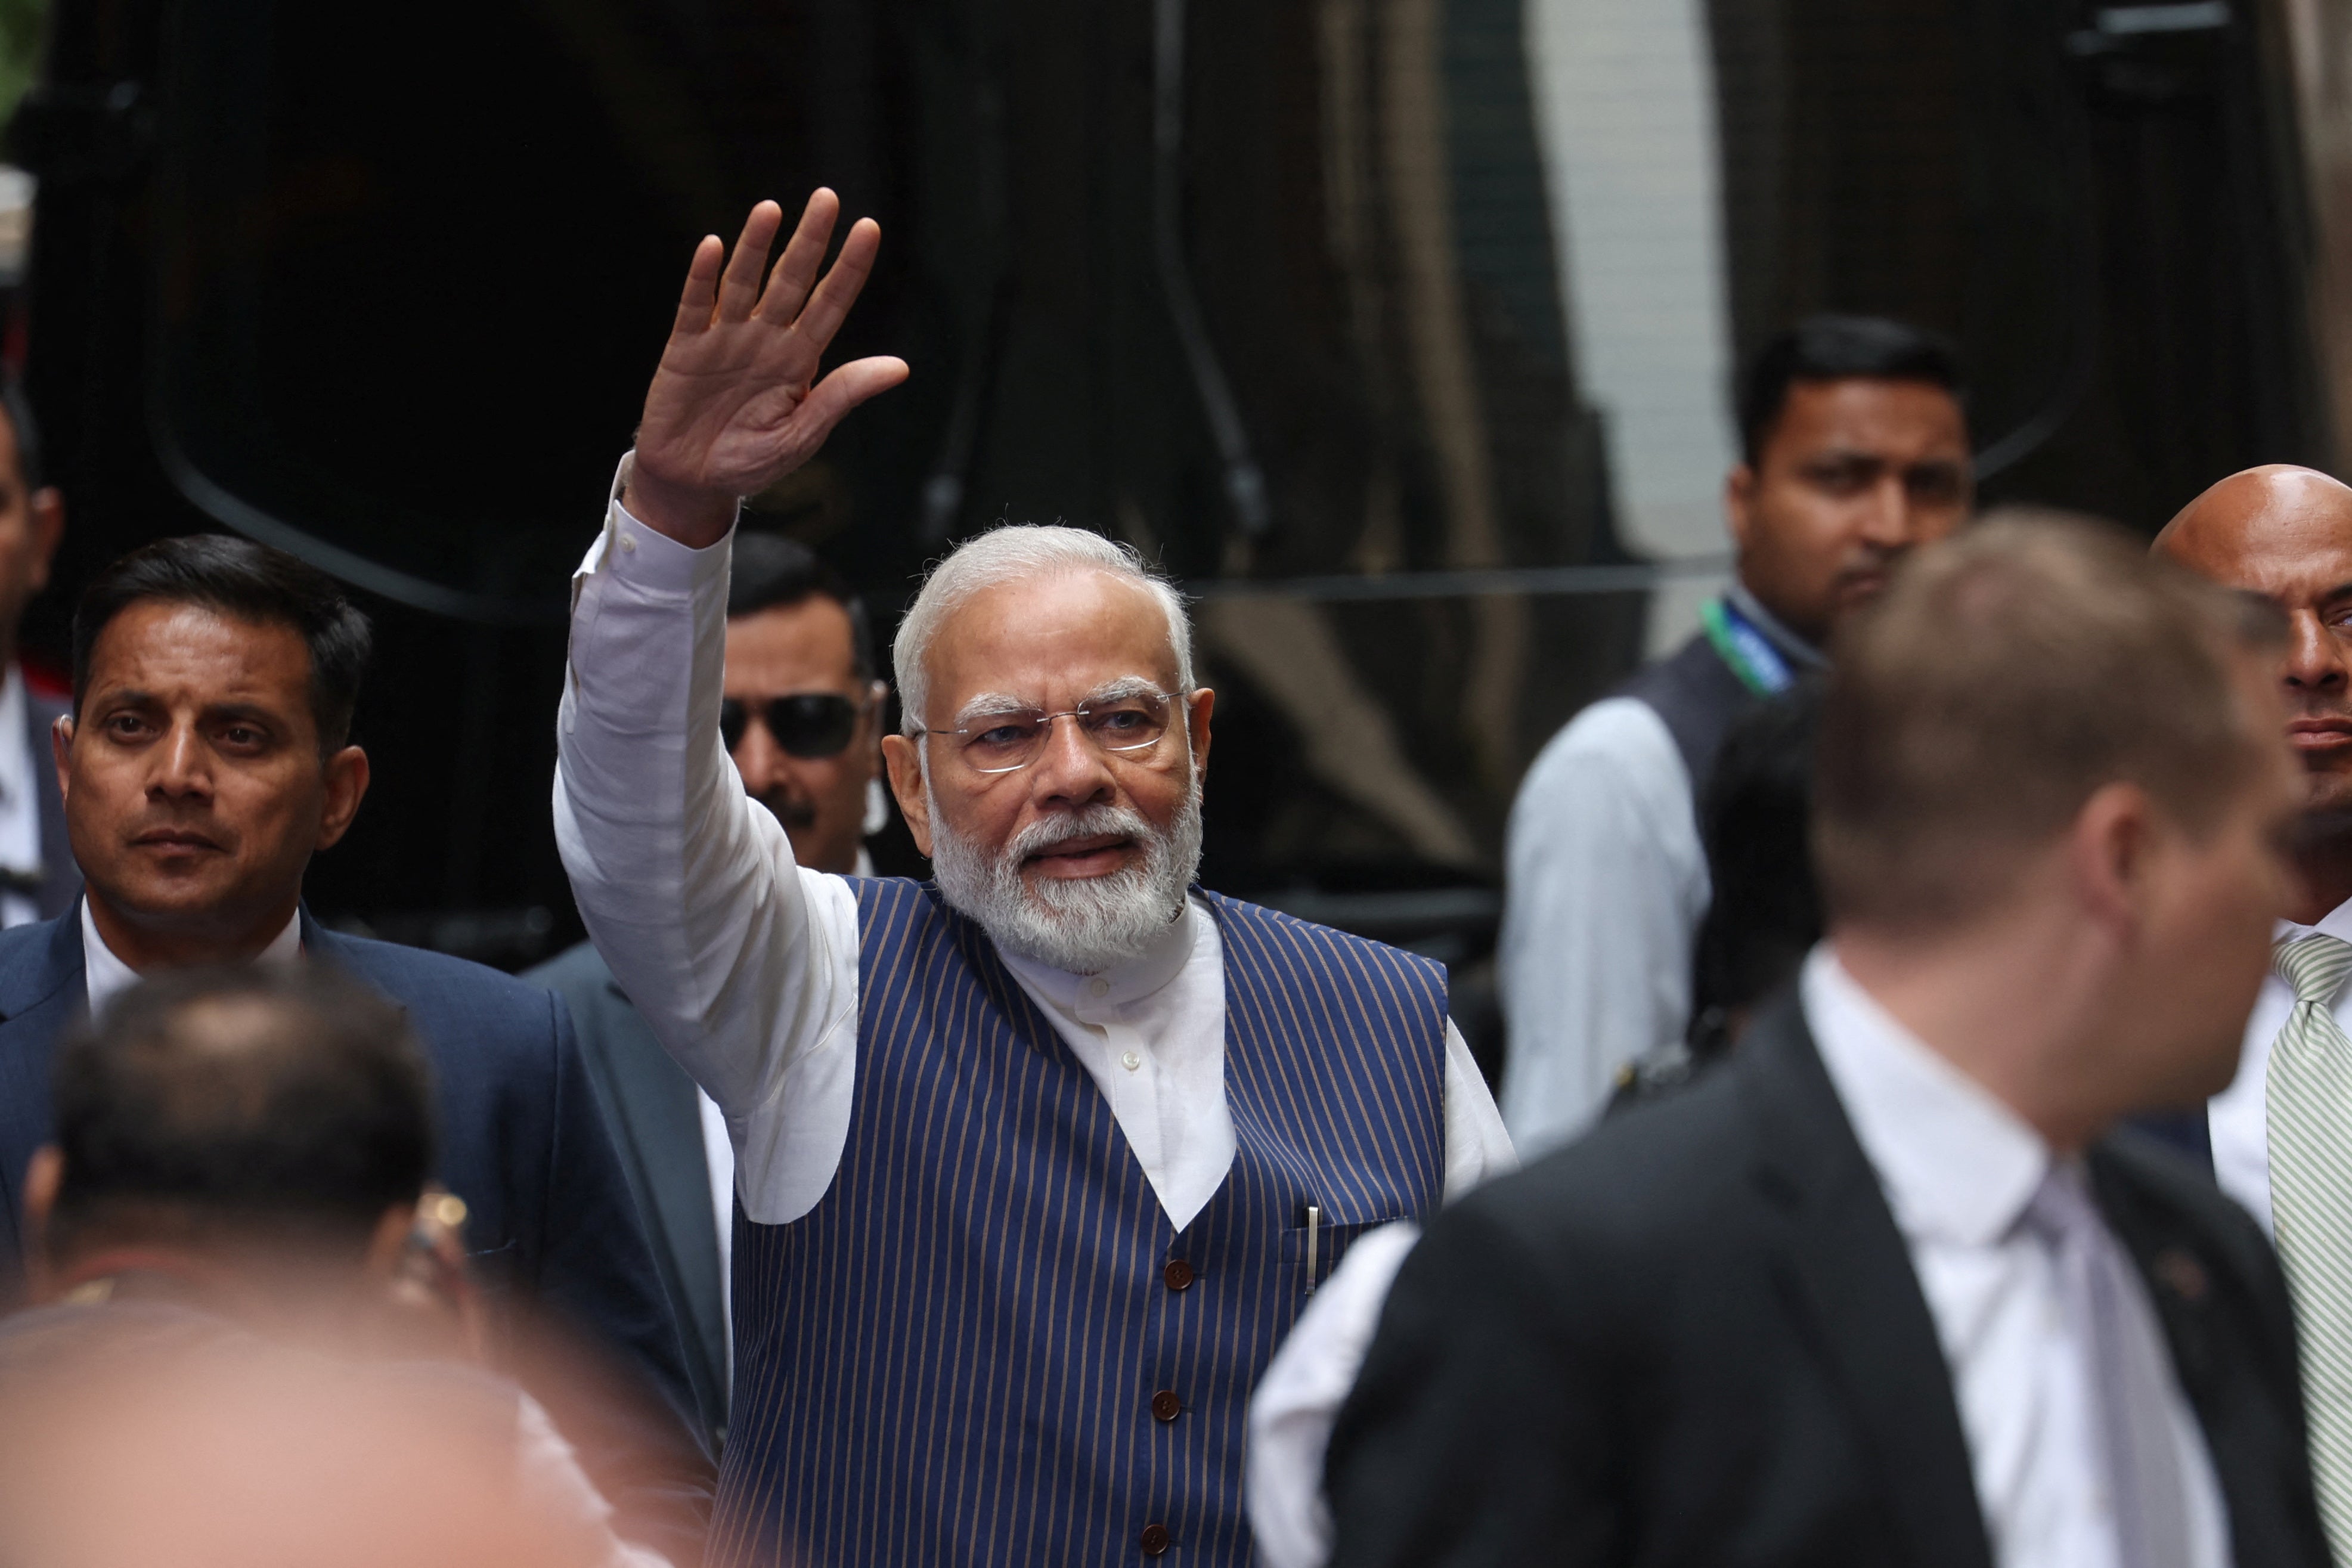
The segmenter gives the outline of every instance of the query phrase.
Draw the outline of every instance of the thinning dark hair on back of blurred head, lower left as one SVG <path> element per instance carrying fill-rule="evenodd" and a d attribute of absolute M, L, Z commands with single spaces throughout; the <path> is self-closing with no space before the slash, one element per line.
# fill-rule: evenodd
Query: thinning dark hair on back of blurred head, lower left
<path fill-rule="evenodd" d="M 148 980 L 68 1039 L 52 1098 L 59 1253 L 127 1229 L 365 1251 L 433 1171 L 405 1016 L 322 964 Z"/>

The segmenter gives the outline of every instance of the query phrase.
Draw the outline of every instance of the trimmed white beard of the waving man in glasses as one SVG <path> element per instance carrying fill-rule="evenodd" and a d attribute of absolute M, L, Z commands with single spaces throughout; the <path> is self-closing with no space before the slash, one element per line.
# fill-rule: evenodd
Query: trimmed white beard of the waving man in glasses
<path fill-rule="evenodd" d="M 931 875 L 950 910 L 978 922 L 997 947 L 1075 976 L 1101 973 L 1143 954 L 1183 910 L 1200 870 L 1200 780 L 1185 790 L 1176 820 L 1155 830 L 1127 806 L 1089 806 L 1030 823 L 997 853 L 957 837 L 931 816 Z M 1143 846 L 1143 863 L 1108 877 L 1040 877 L 1033 889 L 1021 863 L 1049 844 L 1115 832 Z"/>

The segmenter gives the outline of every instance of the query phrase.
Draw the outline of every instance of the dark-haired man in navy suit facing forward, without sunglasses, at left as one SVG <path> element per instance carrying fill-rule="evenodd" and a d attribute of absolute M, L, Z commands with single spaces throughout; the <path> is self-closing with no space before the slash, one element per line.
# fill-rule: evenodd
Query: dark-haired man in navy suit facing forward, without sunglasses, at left
<path fill-rule="evenodd" d="M 367 618 L 332 578 L 249 541 L 160 541 L 85 590 L 75 712 L 54 762 L 87 891 L 59 919 L 0 933 L 0 1281 L 19 1284 L 21 1180 L 49 1140 L 49 1063 L 71 1023 L 146 971 L 336 964 L 397 1001 L 426 1044 L 440 1180 L 466 1204 L 501 1319 L 614 1366 L 595 1396 L 569 1401 L 567 1436 L 640 1535 L 694 1556 L 710 1465 L 562 1001 L 325 931 L 301 907 L 310 856 L 367 792 L 367 752 L 348 745 L 367 649 Z"/>

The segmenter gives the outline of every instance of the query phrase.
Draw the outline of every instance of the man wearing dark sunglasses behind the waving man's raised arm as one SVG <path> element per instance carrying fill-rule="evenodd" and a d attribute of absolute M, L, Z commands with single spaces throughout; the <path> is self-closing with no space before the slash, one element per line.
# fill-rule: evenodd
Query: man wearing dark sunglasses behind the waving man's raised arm
<path fill-rule="evenodd" d="M 807 545 L 743 534 L 727 583 L 720 738 L 743 792 L 769 809 L 793 860 L 873 875 L 866 835 L 887 820 L 882 715 L 866 604 Z M 694 1403 L 713 1453 L 727 1432 L 727 1253 L 734 1145 L 710 1095 L 670 1060 L 593 943 L 524 976 L 572 1009 L 604 1098 L 661 1281 L 677 1305 Z"/>

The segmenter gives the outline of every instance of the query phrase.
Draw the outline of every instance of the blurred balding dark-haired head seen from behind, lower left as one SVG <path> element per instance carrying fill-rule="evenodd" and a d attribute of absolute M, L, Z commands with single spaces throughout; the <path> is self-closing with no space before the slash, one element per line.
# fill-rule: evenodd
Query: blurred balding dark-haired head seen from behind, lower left
<path fill-rule="evenodd" d="M 64 1046 L 52 1098 L 56 1143 L 26 1180 L 40 1300 L 376 1302 L 433 1171 L 407 1023 L 320 964 L 148 980 Z"/>

